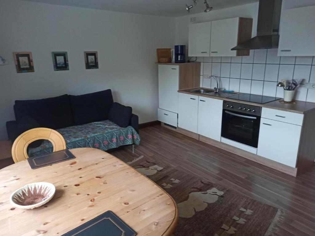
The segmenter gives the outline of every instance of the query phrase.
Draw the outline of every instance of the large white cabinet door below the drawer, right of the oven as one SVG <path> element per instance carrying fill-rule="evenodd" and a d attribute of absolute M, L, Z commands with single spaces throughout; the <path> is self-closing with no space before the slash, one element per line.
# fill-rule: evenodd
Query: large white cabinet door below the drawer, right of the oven
<path fill-rule="evenodd" d="M 295 167 L 302 126 L 261 118 L 257 155 Z"/>

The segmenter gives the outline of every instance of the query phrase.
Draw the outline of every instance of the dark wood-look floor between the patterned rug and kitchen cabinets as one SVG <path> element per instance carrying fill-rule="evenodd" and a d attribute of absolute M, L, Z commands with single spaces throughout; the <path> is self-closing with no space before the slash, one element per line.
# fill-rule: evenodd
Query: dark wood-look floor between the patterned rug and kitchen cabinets
<path fill-rule="evenodd" d="M 280 235 L 315 235 L 315 166 L 299 177 L 263 166 L 183 134 L 152 126 L 140 129 L 141 143 L 115 150 L 130 158 L 145 155 L 182 171 L 287 210 Z"/>

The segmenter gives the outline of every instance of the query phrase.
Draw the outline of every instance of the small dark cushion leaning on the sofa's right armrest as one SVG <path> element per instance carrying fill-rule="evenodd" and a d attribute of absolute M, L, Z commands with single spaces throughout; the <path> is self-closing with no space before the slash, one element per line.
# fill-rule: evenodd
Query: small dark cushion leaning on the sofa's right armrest
<path fill-rule="evenodd" d="M 113 103 L 109 110 L 108 120 L 114 122 L 120 127 L 127 127 L 130 124 L 132 108 L 119 103 Z"/>

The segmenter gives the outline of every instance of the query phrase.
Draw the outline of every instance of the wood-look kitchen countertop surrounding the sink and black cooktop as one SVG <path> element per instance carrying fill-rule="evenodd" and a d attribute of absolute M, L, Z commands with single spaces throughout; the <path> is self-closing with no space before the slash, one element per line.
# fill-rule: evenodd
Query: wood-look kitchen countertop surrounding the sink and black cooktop
<path fill-rule="evenodd" d="M 254 103 L 254 102 L 246 102 L 246 101 L 242 101 L 242 100 L 238 100 L 238 99 L 232 99 L 232 98 L 228 98 L 228 97 L 222 98 L 222 97 L 217 97 L 217 96 L 213 96 L 213 95 L 209 95 L 209 94 L 190 92 L 193 89 L 199 89 L 199 88 L 203 88 L 203 87 L 182 89 L 182 90 L 178 90 L 178 92 L 179 93 L 192 94 L 192 95 L 198 95 L 201 97 L 216 98 L 216 99 L 220 99 L 220 100 L 237 102 L 237 103 L 248 104 L 248 105 L 253 105 L 253 106 L 266 107 L 266 108 L 277 109 L 277 110 L 284 110 L 284 111 L 295 112 L 295 113 L 300 113 L 300 114 L 305 114 L 305 113 L 315 109 L 315 103 L 303 102 L 303 101 L 297 101 L 297 100 L 296 100 L 296 104 L 280 103 L 279 100 L 261 104 L 261 103 Z M 203 89 L 209 89 L 209 88 L 203 88 Z"/>

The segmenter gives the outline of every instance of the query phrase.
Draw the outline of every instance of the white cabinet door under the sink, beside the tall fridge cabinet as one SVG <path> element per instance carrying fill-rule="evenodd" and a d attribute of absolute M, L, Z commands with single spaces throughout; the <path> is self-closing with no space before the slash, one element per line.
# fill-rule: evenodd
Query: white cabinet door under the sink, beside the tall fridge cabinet
<path fill-rule="evenodd" d="M 197 133 L 198 96 L 178 93 L 178 127 Z"/>

